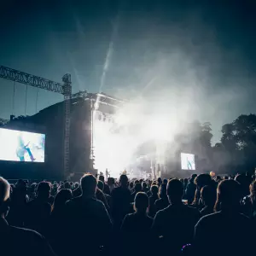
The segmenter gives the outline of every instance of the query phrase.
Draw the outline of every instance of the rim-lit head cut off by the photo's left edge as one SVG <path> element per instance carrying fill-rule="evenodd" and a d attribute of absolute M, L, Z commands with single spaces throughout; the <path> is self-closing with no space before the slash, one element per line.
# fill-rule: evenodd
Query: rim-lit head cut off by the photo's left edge
<path fill-rule="evenodd" d="M 0 217 L 5 218 L 9 212 L 9 182 L 0 177 Z"/>

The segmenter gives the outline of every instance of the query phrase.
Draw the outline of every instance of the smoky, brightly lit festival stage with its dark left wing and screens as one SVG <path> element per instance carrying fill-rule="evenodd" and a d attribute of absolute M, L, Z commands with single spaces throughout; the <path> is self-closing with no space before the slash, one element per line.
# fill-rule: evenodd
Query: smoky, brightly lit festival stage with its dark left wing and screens
<path fill-rule="evenodd" d="M 173 144 L 176 126 L 165 113 L 148 111 L 140 102 L 81 92 L 71 99 L 70 170 L 63 173 L 63 105 L 56 103 L 2 127 L 0 139 L 8 145 L 0 151 L 5 177 L 58 179 L 84 172 L 105 174 L 106 169 L 115 178 L 124 171 L 131 178 L 188 177 L 202 172 L 198 154 Z M 16 141 L 22 132 L 26 142 L 19 157 Z M 37 154 L 34 160 L 31 150 Z"/>

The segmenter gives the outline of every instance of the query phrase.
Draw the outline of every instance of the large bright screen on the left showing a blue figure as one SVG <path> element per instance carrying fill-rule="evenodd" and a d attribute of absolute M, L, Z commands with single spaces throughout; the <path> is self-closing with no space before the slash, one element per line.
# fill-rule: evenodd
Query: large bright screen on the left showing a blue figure
<path fill-rule="evenodd" d="M 0 128 L 0 160 L 44 162 L 45 135 Z"/>

